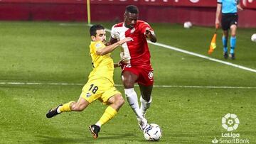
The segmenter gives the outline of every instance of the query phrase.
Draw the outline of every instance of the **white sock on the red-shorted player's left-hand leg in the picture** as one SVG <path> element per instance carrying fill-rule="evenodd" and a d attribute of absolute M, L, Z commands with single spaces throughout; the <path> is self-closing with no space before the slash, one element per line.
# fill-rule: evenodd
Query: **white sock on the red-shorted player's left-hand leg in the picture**
<path fill-rule="evenodd" d="M 138 96 L 134 91 L 134 88 L 124 89 L 124 94 L 127 97 L 127 101 L 137 117 L 139 119 L 143 119 L 142 111 L 139 109 Z"/>

